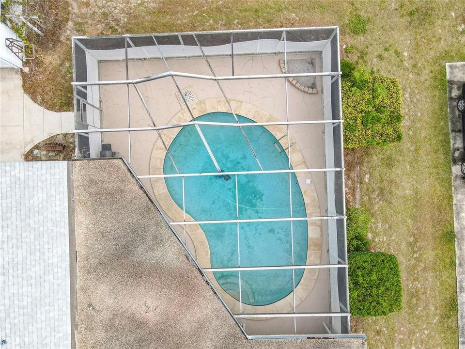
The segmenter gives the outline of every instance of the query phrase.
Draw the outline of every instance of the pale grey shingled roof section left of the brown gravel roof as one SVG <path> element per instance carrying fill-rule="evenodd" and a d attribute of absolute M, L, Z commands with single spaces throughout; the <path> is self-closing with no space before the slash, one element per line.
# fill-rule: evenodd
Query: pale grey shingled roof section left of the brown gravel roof
<path fill-rule="evenodd" d="M 0 163 L 1 348 L 71 348 L 66 162 Z"/>

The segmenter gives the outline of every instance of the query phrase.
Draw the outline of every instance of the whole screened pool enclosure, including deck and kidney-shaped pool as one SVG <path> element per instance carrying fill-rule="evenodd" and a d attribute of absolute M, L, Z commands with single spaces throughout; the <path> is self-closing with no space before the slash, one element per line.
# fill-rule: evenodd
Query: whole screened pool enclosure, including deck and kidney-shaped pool
<path fill-rule="evenodd" d="M 126 161 L 247 338 L 360 336 L 350 333 L 339 28 L 74 37 L 72 47 L 76 156 Z"/>

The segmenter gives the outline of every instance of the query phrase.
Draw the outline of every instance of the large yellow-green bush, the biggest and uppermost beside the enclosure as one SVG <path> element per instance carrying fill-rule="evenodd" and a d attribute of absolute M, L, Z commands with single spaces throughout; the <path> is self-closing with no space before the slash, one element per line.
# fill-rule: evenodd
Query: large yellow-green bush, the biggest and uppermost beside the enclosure
<path fill-rule="evenodd" d="M 401 89 L 396 79 L 341 62 L 344 147 L 402 140 Z"/>

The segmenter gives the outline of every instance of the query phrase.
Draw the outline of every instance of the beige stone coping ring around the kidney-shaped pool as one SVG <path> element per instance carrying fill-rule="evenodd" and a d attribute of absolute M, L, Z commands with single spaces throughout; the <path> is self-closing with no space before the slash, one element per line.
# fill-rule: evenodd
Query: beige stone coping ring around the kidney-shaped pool
<path fill-rule="evenodd" d="M 247 115 L 248 118 L 255 122 L 278 122 L 279 120 L 273 117 L 266 111 L 247 103 L 238 100 L 230 100 L 231 107 L 234 112 L 239 115 Z M 204 100 L 197 100 L 189 103 L 189 109 L 192 111 L 194 117 L 207 114 L 209 112 L 231 112 L 228 103 L 223 98 L 209 98 Z M 183 107 L 174 117 L 171 118 L 169 124 L 179 124 L 191 121 L 191 115 L 186 107 Z M 282 125 L 268 125 L 265 127 L 277 140 L 287 133 L 287 128 Z M 166 146 L 169 147 L 171 142 L 174 140 L 181 128 L 170 128 L 162 131 L 163 141 Z M 281 146 L 287 148 L 287 137 L 282 137 L 279 141 Z M 289 143 L 295 143 L 292 134 L 289 134 Z M 289 151 L 286 150 L 286 154 L 289 156 Z M 166 150 L 161 142 L 160 137 L 155 141 L 151 159 L 150 159 L 150 174 L 163 174 L 163 165 L 166 155 Z M 308 168 L 302 152 L 297 143 L 292 145 L 292 156 L 291 164 L 294 169 L 306 169 Z M 297 179 L 303 176 L 309 176 L 306 172 L 296 172 Z M 184 212 L 176 203 L 172 200 L 170 193 L 165 184 L 164 178 L 151 178 L 151 185 L 155 195 L 155 200 L 163 202 L 161 205 L 165 215 L 170 217 L 171 220 L 181 222 L 184 221 Z M 311 183 L 310 188 L 302 191 L 307 217 L 320 216 L 320 206 L 316 189 Z M 186 221 L 194 221 L 186 213 Z M 314 265 L 319 264 L 322 254 L 322 229 L 321 222 L 317 220 L 308 220 L 308 249 L 307 249 L 307 262 L 306 264 Z M 188 224 L 185 225 L 186 233 L 192 240 L 195 249 L 195 257 L 197 262 L 202 268 L 211 268 L 210 262 L 210 248 L 208 246 L 208 240 L 206 239 L 202 228 L 199 224 Z M 210 281 L 217 289 L 221 298 L 230 307 L 233 313 L 283 313 L 294 311 L 294 295 L 295 295 L 295 306 L 300 304 L 311 292 L 313 286 L 316 283 L 318 276 L 318 269 L 305 269 L 300 282 L 297 284 L 293 292 L 279 301 L 276 301 L 267 305 L 248 305 L 242 303 L 230 296 L 224 289 L 217 283 L 213 272 L 205 272 Z M 265 319 L 265 318 L 261 318 Z"/>

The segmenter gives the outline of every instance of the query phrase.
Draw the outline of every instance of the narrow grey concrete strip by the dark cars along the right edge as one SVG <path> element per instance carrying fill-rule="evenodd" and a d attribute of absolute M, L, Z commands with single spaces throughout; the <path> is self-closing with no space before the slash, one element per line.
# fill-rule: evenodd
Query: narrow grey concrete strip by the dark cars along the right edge
<path fill-rule="evenodd" d="M 452 193 L 454 196 L 455 262 L 459 305 L 459 348 L 465 348 L 465 177 L 460 165 L 465 161 L 462 118 L 457 98 L 465 82 L 465 63 L 447 63 L 449 130 L 452 156 Z"/>

